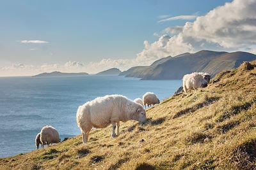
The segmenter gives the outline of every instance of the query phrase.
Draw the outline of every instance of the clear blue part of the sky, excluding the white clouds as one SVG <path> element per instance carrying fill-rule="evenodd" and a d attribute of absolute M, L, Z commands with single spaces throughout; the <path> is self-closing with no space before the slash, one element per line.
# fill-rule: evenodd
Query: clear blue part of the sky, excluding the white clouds
<path fill-rule="evenodd" d="M 144 41 L 157 42 L 164 29 L 183 27 L 195 18 L 159 20 L 204 16 L 226 2 L 230 1 L 1 1 L 0 67 L 8 75 L 8 67 L 19 64 L 34 68 L 57 64 L 60 69 L 68 61 L 97 66 L 93 64 L 102 59 L 135 59 L 145 50 Z M 90 72 L 89 68 L 79 71 Z"/>

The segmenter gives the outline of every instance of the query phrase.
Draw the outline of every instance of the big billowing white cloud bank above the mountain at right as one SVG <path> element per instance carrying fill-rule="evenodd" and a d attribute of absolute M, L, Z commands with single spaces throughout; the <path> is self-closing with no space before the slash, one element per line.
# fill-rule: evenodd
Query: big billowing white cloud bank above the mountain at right
<path fill-rule="evenodd" d="M 145 48 L 137 60 L 150 61 L 199 50 L 244 50 L 256 45 L 256 1 L 235 0 L 186 22 L 183 27 L 168 27 L 153 43 L 144 42 Z M 168 34 L 168 36 L 166 36 Z M 254 46 L 254 48 L 253 48 Z"/>

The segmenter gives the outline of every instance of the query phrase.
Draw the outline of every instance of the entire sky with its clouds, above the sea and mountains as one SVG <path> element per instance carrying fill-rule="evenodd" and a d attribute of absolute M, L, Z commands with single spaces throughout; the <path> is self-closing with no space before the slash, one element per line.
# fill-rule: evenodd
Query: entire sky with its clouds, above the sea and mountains
<path fill-rule="evenodd" d="M 0 4 L 0 76 L 124 71 L 199 50 L 256 53 L 255 0 Z"/>

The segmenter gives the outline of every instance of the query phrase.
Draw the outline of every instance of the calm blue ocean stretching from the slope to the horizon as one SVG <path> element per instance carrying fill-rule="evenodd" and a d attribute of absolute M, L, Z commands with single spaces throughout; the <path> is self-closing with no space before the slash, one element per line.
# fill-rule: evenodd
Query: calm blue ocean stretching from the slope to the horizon
<path fill-rule="evenodd" d="M 79 135 L 77 108 L 95 97 L 122 94 L 133 100 L 154 92 L 163 101 L 181 85 L 123 76 L 0 78 L 0 157 L 35 150 L 35 136 L 45 125 L 55 127 L 61 140 Z"/>

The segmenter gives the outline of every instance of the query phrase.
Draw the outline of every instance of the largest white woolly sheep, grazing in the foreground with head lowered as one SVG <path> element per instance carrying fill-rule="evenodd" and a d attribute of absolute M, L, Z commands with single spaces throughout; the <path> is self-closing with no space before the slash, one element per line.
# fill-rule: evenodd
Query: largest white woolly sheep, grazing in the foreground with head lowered
<path fill-rule="evenodd" d="M 141 104 L 135 103 L 125 96 L 109 95 L 97 97 L 83 104 L 83 106 L 79 106 L 76 120 L 83 136 L 83 143 L 86 144 L 89 132 L 93 127 L 105 128 L 112 124 L 112 137 L 115 138 L 119 135 L 120 121 L 137 120 L 143 124 L 147 117 Z"/>

